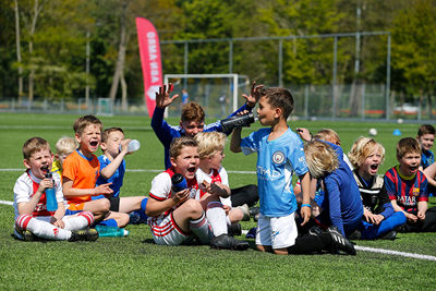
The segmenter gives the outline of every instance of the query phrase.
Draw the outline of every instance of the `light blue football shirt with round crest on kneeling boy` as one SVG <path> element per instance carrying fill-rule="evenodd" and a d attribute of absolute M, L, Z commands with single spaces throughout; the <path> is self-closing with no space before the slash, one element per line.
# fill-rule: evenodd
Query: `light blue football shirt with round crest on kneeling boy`
<path fill-rule="evenodd" d="M 288 216 L 296 210 L 292 174 L 308 171 L 303 142 L 290 129 L 268 141 L 270 129 L 251 133 L 241 141 L 244 155 L 257 153 L 257 186 L 261 213 L 268 217 Z"/>

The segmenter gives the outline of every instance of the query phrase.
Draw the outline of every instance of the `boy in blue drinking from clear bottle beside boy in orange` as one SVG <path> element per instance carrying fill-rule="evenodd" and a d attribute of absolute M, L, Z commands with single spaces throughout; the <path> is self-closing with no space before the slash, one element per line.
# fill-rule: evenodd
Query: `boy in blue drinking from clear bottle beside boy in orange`
<path fill-rule="evenodd" d="M 113 190 L 113 194 L 108 197 L 110 202 L 109 210 L 124 214 L 135 211 L 140 217 L 140 219 L 136 220 L 146 222 L 147 216 L 145 215 L 145 207 L 147 204 L 147 197 L 120 197 L 120 191 L 125 173 L 124 157 L 125 155 L 131 154 L 128 151 L 130 141 L 131 140 L 124 140 L 124 132 L 120 128 L 110 128 L 102 132 L 100 147 L 104 155 L 98 157 L 98 161 L 100 162 L 100 175 L 98 177 L 96 184 L 101 185 L 111 183 L 110 189 Z M 93 199 L 100 199 L 104 197 L 104 195 L 93 196 Z"/>

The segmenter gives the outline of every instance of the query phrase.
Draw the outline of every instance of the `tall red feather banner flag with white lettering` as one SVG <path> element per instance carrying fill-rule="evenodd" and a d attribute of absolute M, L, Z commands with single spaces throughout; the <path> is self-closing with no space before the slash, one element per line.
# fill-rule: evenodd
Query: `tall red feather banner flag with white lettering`
<path fill-rule="evenodd" d="M 156 92 L 162 85 L 159 37 L 155 26 L 146 19 L 136 17 L 136 29 L 144 77 L 144 98 L 148 116 L 152 117 L 156 107 Z"/>

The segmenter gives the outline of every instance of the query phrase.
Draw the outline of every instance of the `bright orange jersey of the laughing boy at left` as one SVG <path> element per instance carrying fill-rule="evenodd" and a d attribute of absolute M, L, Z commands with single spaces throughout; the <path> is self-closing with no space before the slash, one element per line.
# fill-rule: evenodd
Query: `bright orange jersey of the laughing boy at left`
<path fill-rule="evenodd" d="M 93 155 L 86 158 L 78 150 L 66 157 L 63 162 L 62 178 L 73 181 L 75 189 L 94 189 L 100 172 L 100 162 Z M 69 204 L 76 204 L 90 201 L 90 195 L 65 197 Z"/>

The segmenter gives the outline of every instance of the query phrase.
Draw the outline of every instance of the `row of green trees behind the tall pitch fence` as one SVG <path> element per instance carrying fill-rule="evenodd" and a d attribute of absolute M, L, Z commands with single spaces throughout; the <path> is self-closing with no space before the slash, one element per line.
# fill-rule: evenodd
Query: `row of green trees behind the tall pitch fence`
<path fill-rule="evenodd" d="M 436 0 L 0 0 L 0 93 L 33 100 L 143 98 L 135 17 L 161 40 L 391 34 L 391 90 L 432 104 Z M 339 38 L 337 83 L 386 81 L 386 36 Z M 330 84 L 332 39 L 282 43 L 284 84 Z M 278 84 L 277 41 L 235 43 L 233 72 Z M 161 45 L 165 73 L 183 73 L 184 47 Z M 189 73 L 228 73 L 226 43 L 190 44 Z M 88 65 L 86 62 L 88 61 Z"/>

